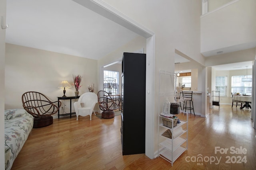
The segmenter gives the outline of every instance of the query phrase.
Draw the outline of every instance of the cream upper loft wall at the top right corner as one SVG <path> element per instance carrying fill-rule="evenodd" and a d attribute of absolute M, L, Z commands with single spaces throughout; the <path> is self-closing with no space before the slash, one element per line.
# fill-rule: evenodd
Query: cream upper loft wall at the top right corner
<path fill-rule="evenodd" d="M 214 13 L 202 16 L 201 52 L 255 43 L 255 9 L 255 0 L 239 0 Z"/>

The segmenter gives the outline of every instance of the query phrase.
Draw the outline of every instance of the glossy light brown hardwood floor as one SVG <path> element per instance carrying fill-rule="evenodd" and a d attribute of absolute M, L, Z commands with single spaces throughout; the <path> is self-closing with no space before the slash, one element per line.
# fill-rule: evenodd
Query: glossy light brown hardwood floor
<path fill-rule="evenodd" d="M 189 114 L 188 150 L 173 166 L 163 158 L 151 160 L 145 154 L 122 156 L 120 115 L 99 119 L 93 114 L 91 121 L 89 116 L 79 117 L 78 121 L 76 116 L 61 117 L 48 127 L 32 129 L 12 170 L 255 170 L 256 137 L 250 115 L 250 109 L 231 105 L 221 105 L 220 109 L 214 106 L 206 118 Z M 227 154 L 215 153 L 215 147 L 227 148 Z M 231 154 L 230 147 L 242 147 L 247 152 Z M 192 162 L 198 154 L 204 161 Z M 246 156 L 247 162 L 228 163 L 226 156 L 232 162 Z M 210 163 L 208 158 L 218 158 L 220 163 Z"/>

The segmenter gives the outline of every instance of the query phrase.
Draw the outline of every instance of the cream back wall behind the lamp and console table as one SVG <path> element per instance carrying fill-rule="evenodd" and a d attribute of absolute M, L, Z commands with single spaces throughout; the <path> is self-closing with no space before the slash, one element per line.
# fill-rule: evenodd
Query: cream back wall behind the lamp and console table
<path fill-rule="evenodd" d="M 6 43 L 5 109 L 22 108 L 21 96 L 28 91 L 41 92 L 56 101 L 57 96 L 63 96 L 63 89 L 59 89 L 58 85 L 62 80 L 72 84 L 72 74 L 82 76 L 80 95 L 88 92 L 91 83 L 95 84 L 97 92 L 96 60 Z M 66 96 L 74 96 L 74 91 L 74 86 L 66 89 Z M 64 102 L 65 111 L 69 113 L 69 100 L 62 100 L 62 106 Z"/>

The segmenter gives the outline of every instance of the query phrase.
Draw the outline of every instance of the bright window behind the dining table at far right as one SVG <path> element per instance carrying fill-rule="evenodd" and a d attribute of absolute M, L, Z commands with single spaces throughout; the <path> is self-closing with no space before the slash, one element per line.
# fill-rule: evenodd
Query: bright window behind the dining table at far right
<path fill-rule="evenodd" d="M 252 78 L 248 76 L 232 76 L 231 77 L 231 92 L 246 95 L 252 95 L 252 82 L 242 82 L 242 78 Z"/>

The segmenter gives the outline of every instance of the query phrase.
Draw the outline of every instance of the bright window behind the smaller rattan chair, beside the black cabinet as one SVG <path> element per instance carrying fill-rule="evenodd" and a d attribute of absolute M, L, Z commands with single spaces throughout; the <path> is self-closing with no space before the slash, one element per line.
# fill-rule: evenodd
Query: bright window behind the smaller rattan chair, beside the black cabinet
<path fill-rule="evenodd" d="M 119 94 L 119 72 L 104 70 L 103 78 L 104 91 L 108 92 L 109 94 Z"/>

